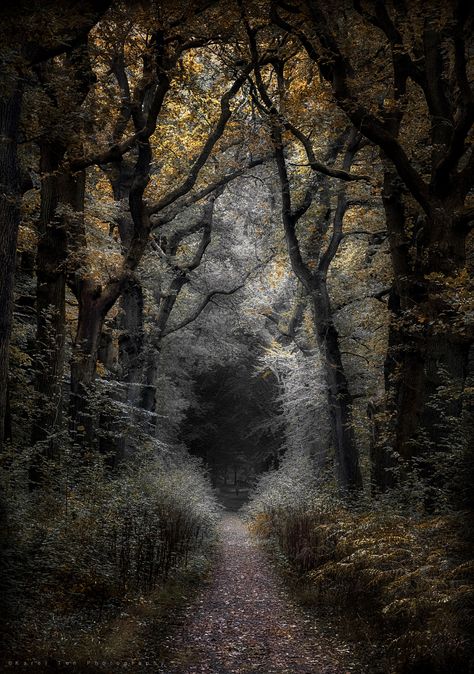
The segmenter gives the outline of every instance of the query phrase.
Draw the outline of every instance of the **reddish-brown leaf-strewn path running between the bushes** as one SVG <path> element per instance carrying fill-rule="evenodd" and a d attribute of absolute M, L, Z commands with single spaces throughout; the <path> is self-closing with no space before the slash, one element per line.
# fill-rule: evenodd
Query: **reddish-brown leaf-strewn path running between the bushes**
<path fill-rule="evenodd" d="M 236 514 L 220 523 L 213 579 L 168 634 L 166 674 L 343 674 L 349 648 L 292 601 Z"/>

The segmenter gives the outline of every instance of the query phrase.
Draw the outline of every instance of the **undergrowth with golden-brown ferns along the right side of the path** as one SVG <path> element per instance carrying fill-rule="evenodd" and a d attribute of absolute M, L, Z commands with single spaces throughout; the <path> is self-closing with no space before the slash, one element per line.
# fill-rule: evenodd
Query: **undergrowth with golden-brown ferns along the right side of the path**
<path fill-rule="evenodd" d="M 257 487 L 248 512 L 306 599 L 363 615 L 385 639 L 390 671 L 471 671 L 474 563 L 465 516 L 415 517 L 393 499 L 350 506 L 301 484 L 298 470 L 283 466 Z"/>

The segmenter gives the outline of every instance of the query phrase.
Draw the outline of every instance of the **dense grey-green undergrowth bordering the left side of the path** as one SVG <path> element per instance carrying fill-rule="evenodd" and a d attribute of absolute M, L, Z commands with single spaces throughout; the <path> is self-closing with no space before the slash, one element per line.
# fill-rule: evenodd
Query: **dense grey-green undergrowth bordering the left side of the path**
<path fill-rule="evenodd" d="M 30 461 L 4 457 L 2 471 L 9 652 L 51 653 L 126 597 L 209 555 L 217 506 L 200 463 L 184 451 L 155 448 L 112 473 L 103 457 L 84 463 L 66 449 L 34 491 Z"/>

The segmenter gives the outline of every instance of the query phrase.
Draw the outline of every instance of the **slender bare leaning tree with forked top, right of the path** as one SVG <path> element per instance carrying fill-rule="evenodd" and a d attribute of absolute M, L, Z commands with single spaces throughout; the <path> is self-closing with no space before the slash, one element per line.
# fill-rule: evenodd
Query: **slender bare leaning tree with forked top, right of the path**
<path fill-rule="evenodd" d="M 255 40 L 256 31 L 248 25 L 248 36 L 252 55 L 254 59 L 257 54 L 257 43 Z M 328 152 L 328 162 L 322 165 L 316 162 L 313 148 L 309 138 L 305 137 L 291 122 L 284 118 L 281 108 L 284 109 L 285 96 L 285 65 L 284 61 L 273 58 L 272 66 L 277 78 L 277 93 L 280 101 L 278 109 L 269 95 L 262 72 L 259 67 L 255 70 L 256 92 L 260 96 L 262 103 L 255 98 L 257 105 L 263 108 L 264 113 L 269 116 L 271 127 L 271 138 L 275 151 L 275 160 L 277 164 L 278 176 L 281 189 L 282 220 L 287 241 L 288 254 L 294 273 L 303 284 L 313 305 L 313 314 L 315 321 L 315 332 L 318 345 L 321 350 L 323 362 L 325 364 L 325 375 L 328 390 L 329 414 L 331 418 L 332 441 L 335 449 L 336 462 L 338 466 L 338 478 L 341 487 L 344 490 L 360 489 L 362 478 L 358 465 L 358 451 L 355 444 L 351 406 L 352 398 L 349 391 L 347 377 L 344 372 L 342 357 L 339 347 L 339 337 L 334 324 L 331 311 L 331 303 L 327 291 L 327 274 L 329 266 L 337 252 L 339 243 L 342 240 L 342 222 L 344 214 L 349 207 L 344 189 L 339 190 L 337 206 L 334 213 L 333 230 L 329 244 L 325 251 L 321 250 L 321 243 L 317 245 L 315 260 L 313 265 L 303 260 L 300 242 L 296 232 L 298 221 L 305 215 L 310 208 L 317 192 L 318 186 L 313 180 L 307 186 L 301 203 L 294 207 L 291 197 L 290 180 L 288 176 L 287 162 L 285 158 L 283 130 L 287 128 L 299 141 L 303 143 L 309 165 L 312 169 L 320 171 L 324 169 L 325 174 L 338 175 L 346 180 L 360 179 L 358 176 L 351 175 L 351 167 L 354 155 L 360 144 L 360 136 L 352 133 L 343 161 L 342 171 L 331 169 L 328 163 L 337 158 L 341 150 L 341 140 L 336 140 L 334 147 Z M 317 164 L 319 168 L 317 168 Z M 321 194 L 324 199 L 324 187 L 321 185 Z M 331 213 L 330 197 L 326 190 L 326 217 Z M 323 223 L 319 236 L 322 237 L 329 222 Z M 320 239 L 321 241 L 321 239 Z M 314 269 L 312 269 L 314 266 Z"/>

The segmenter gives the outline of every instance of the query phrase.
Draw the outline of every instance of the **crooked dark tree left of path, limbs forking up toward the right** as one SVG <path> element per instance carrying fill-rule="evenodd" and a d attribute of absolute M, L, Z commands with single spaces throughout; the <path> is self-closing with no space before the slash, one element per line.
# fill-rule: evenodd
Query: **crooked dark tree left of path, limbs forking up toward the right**
<path fill-rule="evenodd" d="M 97 352 L 105 317 L 121 295 L 123 287 L 133 276 L 142 259 L 149 244 L 150 234 L 159 225 L 158 216 L 160 212 L 184 197 L 194 187 L 201 169 L 211 155 L 214 146 L 222 137 L 226 123 L 231 117 L 230 102 L 239 92 L 251 68 L 251 66 L 246 66 L 243 73 L 236 77 L 234 84 L 221 96 L 220 112 L 214 127 L 198 152 L 195 161 L 192 162 L 189 173 L 182 183 L 157 202 L 147 204 L 145 190 L 152 171 L 152 136 L 155 133 L 158 116 L 162 110 L 165 97 L 172 84 L 173 70 L 176 68 L 183 52 L 194 46 L 192 39 L 188 45 L 186 42 L 182 43 L 178 37 L 181 36 L 165 40 L 165 36 L 160 31 L 151 37 L 149 44 L 147 44 L 145 73 L 137 86 L 138 91 L 134 96 L 134 105 L 131 106 L 131 119 L 139 143 L 132 176 L 129 178 L 128 207 L 130 217 L 122 221 L 122 223 L 126 222 L 127 226 L 131 226 L 131 231 L 125 232 L 122 227 L 121 234 L 124 234 L 124 238 L 122 240 L 123 262 L 121 268 L 104 285 L 97 283 L 90 273 L 85 275 L 76 273 L 72 282 L 72 287 L 78 297 L 79 317 L 71 364 L 71 414 L 75 429 L 85 429 L 84 432 L 86 432 L 89 441 L 92 440 L 93 435 L 91 417 L 87 410 L 87 399 L 95 373 Z M 109 156 L 107 155 L 107 158 Z M 103 157 L 94 159 L 94 163 L 99 162 L 103 163 Z M 81 163 L 81 160 L 79 160 L 73 162 L 72 165 L 77 168 Z M 229 177 L 226 176 L 221 179 L 221 182 L 228 179 Z M 218 185 L 211 186 L 209 192 L 212 192 L 216 186 Z M 195 198 L 200 199 L 207 193 L 198 193 Z M 78 246 L 81 242 L 84 243 L 84 234 L 84 231 L 77 233 L 76 243 Z M 82 406 L 84 406 L 84 409 L 82 409 Z"/>

